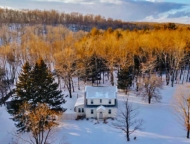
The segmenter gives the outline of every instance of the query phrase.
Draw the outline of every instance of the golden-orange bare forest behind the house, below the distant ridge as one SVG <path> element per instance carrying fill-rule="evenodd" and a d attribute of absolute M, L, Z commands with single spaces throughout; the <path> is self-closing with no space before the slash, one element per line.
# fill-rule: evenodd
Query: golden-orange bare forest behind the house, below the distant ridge
<path fill-rule="evenodd" d="M 70 96 L 72 78 L 91 80 L 98 85 L 101 73 L 108 73 L 114 85 L 118 71 L 121 87 L 130 88 L 138 77 L 166 75 L 166 84 L 188 82 L 190 71 L 189 29 L 123 30 L 93 28 L 73 32 L 59 26 L 4 25 L 0 28 L 1 98 L 11 91 L 21 66 L 34 65 L 40 57 L 67 85 Z M 124 79 L 128 81 L 127 88 Z M 124 84 L 124 85 L 123 85 Z M 80 86 L 79 86 L 80 87 Z"/>

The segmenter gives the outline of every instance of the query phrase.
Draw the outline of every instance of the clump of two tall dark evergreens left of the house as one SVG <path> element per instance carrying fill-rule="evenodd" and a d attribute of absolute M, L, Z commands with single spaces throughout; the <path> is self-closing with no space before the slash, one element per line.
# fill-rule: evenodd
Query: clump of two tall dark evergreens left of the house
<path fill-rule="evenodd" d="M 54 78 L 42 59 L 36 62 L 33 69 L 28 62 L 24 64 L 19 81 L 16 84 L 16 96 L 8 108 L 19 132 L 30 131 L 27 123 L 23 120 L 24 115 L 18 114 L 21 105 L 24 103 L 31 105 L 31 111 L 40 103 L 46 104 L 51 110 L 62 110 L 61 104 L 64 99 L 61 91 L 57 88 L 58 84 L 54 83 Z"/>

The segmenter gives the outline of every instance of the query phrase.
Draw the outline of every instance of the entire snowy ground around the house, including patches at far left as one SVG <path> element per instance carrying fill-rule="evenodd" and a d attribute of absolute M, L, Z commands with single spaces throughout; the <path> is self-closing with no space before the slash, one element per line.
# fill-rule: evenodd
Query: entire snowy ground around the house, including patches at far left
<path fill-rule="evenodd" d="M 77 85 L 77 84 L 76 84 Z M 89 84 L 90 85 L 90 84 Z M 106 84 L 105 84 L 106 85 Z M 75 88 L 73 98 L 66 97 L 67 108 L 66 115 L 73 115 L 73 106 L 77 100 L 77 96 L 83 96 L 84 85 L 81 90 Z M 68 94 L 66 89 L 63 89 L 65 96 Z M 186 139 L 186 131 L 179 124 L 176 116 L 171 109 L 171 99 L 175 87 L 164 86 L 161 90 L 162 100 L 160 103 L 147 104 L 140 97 L 136 97 L 132 92 L 129 94 L 129 101 L 133 107 L 139 107 L 139 118 L 145 121 L 143 129 L 136 131 L 131 135 L 129 143 L 134 144 L 188 144 L 190 140 Z M 119 108 L 122 107 L 122 101 L 126 95 L 118 93 Z M 0 107 L 0 144 L 9 144 L 12 138 L 10 133 L 16 130 L 14 123 L 6 112 L 4 107 Z M 83 120 L 65 120 L 60 119 L 60 125 L 54 130 L 51 143 L 55 144 L 126 144 L 125 134 L 115 129 L 112 123 L 115 120 L 108 119 L 107 124 L 103 121 L 96 124 L 94 119 Z M 137 137 L 134 140 L 134 137 Z M 64 143 L 63 143 L 64 142 Z M 24 144 L 20 140 L 21 144 Z"/>

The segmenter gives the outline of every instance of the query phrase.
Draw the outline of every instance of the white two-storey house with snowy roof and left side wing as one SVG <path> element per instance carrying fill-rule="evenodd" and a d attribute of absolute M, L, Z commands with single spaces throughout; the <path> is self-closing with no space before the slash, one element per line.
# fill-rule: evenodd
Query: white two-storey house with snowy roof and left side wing
<path fill-rule="evenodd" d="M 77 99 L 75 112 L 77 116 L 85 116 L 86 118 L 115 118 L 117 87 L 86 86 L 84 97 Z"/>

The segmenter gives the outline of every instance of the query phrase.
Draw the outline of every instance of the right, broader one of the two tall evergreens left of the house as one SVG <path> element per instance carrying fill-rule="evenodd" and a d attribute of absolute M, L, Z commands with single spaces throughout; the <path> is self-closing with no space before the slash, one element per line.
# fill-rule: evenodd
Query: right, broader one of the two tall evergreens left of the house
<path fill-rule="evenodd" d="M 52 73 L 42 59 L 39 59 L 32 70 L 32 84 L 34 99 L 33 105 L 46 103 L 53 109 L 61 109 L 64 102 L 63 95 L 58 89 L 58 84 L 54 83 Z"/>

